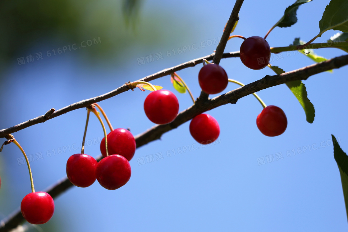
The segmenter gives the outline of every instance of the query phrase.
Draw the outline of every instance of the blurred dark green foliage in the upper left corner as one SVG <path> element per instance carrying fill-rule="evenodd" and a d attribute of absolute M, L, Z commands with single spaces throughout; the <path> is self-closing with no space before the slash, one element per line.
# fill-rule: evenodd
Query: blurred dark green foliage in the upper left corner
<path fill-rule="evenodd" d="M 8 62 L 16 62 L 33 47 L 52 50 L 73 43 L 78 47 L 82 41 L 100 38 L 97 45 L 81 49 L 79 56 L 94 61 L 112 58 L 114 64 L 130 50 L 171 40 L 171 17 L 165 15 L 168 13 L 153 9 L 141 15 L 141 3 L 142 0 L 0 1 L 0 68 L 6 69 Z"/>

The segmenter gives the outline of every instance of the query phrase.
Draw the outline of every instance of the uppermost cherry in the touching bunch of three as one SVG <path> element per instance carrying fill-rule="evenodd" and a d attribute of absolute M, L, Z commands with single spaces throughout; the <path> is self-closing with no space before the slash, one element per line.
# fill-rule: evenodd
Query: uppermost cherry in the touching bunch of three
<path fill-rule="evenodd" d="M 132 133 L 129 130 L 118 128 L 111 131 L 108 135 L 108 152 L 118 154 L 130 161 L 135 153 L 136 144 Z M 106 157 L 105 138 L 100 143 L 100 151 L 103 157 Z"/>

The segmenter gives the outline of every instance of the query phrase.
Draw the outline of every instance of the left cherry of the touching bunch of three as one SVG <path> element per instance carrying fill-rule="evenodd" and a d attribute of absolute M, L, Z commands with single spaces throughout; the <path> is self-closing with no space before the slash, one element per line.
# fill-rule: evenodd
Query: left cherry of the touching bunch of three
<path fill-rule="evenodd" d="M 66 162 L 66 176 L 73 185 L 88 187 L 96 180 L 97 164 L 97 161 L 90 155 L 74 154 Z"/>

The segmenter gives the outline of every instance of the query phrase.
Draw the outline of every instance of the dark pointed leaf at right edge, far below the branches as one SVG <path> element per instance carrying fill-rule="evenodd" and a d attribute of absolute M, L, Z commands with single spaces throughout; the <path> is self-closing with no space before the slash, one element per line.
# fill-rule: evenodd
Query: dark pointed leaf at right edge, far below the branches
<path fill-rule="evenodd" d="M 345 152 L 342 151 L 335 136 L 331 136 L 333 143 L 333 157 L 335 158 L 338 169 L 340 170 L 343 197 L 345 199 L 346 214 L 348 217 L 348 156 Z"/>

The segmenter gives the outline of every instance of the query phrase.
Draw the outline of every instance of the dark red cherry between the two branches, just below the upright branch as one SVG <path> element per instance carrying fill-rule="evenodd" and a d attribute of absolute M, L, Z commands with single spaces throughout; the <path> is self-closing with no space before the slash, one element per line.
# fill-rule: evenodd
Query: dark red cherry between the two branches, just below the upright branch
<path fill-rule="evenodd" d="M 221 93 L 228 84 L 225 70 L 218 64 L 207 64 L 198 73 L 200 88 L 207 94 Z"/>

